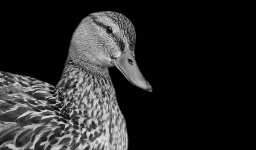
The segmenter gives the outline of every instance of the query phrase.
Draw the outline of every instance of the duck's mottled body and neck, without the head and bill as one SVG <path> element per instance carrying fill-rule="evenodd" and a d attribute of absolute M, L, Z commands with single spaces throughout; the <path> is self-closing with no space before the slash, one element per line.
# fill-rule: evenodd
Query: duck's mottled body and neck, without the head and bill
<path fill-rule="evenodd" d="M 107 72 L 101 76 L 70 64 L 59 88 L 8 72 L 0 72 L 0 78 L 0 144 L 9 138 L 10 149 L 127 147 L 125 119 Z M 35 144 L 29 144 L 33 136 Z"/>

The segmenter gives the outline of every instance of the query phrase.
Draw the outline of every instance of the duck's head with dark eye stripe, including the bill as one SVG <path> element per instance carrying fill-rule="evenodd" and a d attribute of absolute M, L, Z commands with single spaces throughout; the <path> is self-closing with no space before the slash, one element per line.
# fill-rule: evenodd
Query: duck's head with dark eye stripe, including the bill
<path fill-rule="evenodd" d="M 80 66 L 103 70 L 116 66 L 131 84 L 151 92 L 135 60 L 135 42 L 135 29 L 127 17 L 117 12 L 96 12 L 76 28 L 69 59 Z"/>

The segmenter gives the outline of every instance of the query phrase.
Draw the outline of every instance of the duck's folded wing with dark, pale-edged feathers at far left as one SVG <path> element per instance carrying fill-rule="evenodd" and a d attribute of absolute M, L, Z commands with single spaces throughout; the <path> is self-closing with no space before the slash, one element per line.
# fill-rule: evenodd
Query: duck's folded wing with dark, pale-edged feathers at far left
<path fill-rule="evenodd" d="M 49 144 L 56 145 L 64 128 L 62 130 L 58 123 L 50 123 L 63 119 L 56 112 L 61 107 L 61 101 L 53 96 L 56 95 L 55 87 L 35 78 L 8 72 L 0 72 L 0 79 L 0 149 L 27 149 L 31 146 L 44 149 L 41 142 L 48 140 Z M 68 138 L 61 143 L 68 143 Z M 45 148 L 52 148 L 49 144 Z M 64 150 L 67 147 L 61 148 Z"/>

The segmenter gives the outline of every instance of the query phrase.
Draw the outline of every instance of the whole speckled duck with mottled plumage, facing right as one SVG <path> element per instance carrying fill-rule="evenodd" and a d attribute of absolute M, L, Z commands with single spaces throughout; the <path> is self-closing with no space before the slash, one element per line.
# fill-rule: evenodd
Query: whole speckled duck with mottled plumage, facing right
<path fill-rule="evenodd" d="M 134 25 L 95 12 L 73 32 L 56 86 L 0 71 L 0 150 L 127 150 L 128 133 L 108 71 L 152 92 L 135 60 Z"/>

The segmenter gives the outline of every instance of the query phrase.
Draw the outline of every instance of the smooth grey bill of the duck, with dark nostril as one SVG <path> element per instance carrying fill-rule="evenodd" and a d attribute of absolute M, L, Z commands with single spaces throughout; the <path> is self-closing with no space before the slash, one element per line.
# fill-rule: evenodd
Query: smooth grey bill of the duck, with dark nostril
<path fill-rule="evenodd" d="M 113 59 L 112 64 L 122 72 L 131 84 L 136 87 L 140 87 L 145 91 L 152 92 L 152 87 L 141 74 L 134 55 L 129 49 L 125 49 L 125 52 L 123 52 L 118 58 Z"/>

